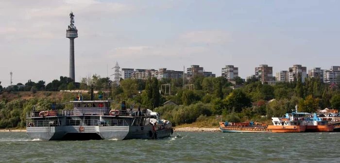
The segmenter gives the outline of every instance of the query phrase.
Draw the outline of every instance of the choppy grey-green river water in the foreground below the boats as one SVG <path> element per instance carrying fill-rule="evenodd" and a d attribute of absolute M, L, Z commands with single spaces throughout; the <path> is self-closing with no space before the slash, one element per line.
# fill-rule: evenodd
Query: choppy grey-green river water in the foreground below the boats
<path fill-rule="evenodd" d="M 39 141 L 0 133 L 8 163 L 339 163 L 340 132 L 189 133 L 160 140 Z"/>

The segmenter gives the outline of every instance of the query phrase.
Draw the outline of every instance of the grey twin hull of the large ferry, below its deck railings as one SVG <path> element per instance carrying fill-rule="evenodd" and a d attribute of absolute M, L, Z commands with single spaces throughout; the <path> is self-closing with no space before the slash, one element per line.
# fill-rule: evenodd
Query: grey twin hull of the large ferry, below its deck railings
<path fill-rule="evenodd" d="M 83 128 L 83 130 L 79 130 Z M 170 137 L 171 129 L 153 131 L 148 126 L 61 126 L 61 127 L 28 127 L 27 134 L 31 139 L 40 140 L 129 140 L 156 139 Z M 86 139 L 87 138 L 87 139 Z"/>

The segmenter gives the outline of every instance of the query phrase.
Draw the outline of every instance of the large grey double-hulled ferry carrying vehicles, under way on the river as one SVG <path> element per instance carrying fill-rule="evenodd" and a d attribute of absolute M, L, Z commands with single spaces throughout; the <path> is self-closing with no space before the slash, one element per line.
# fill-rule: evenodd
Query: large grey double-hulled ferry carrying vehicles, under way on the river
<path fill-rule="evenodd" d="M 73 110 L 26 113 L 27 134 L 40 140 L 127 140 L 169 137 L 171 123 L 156 127 L 151 110 L 111 110 L 109 100 L 70 101 Z"/>

